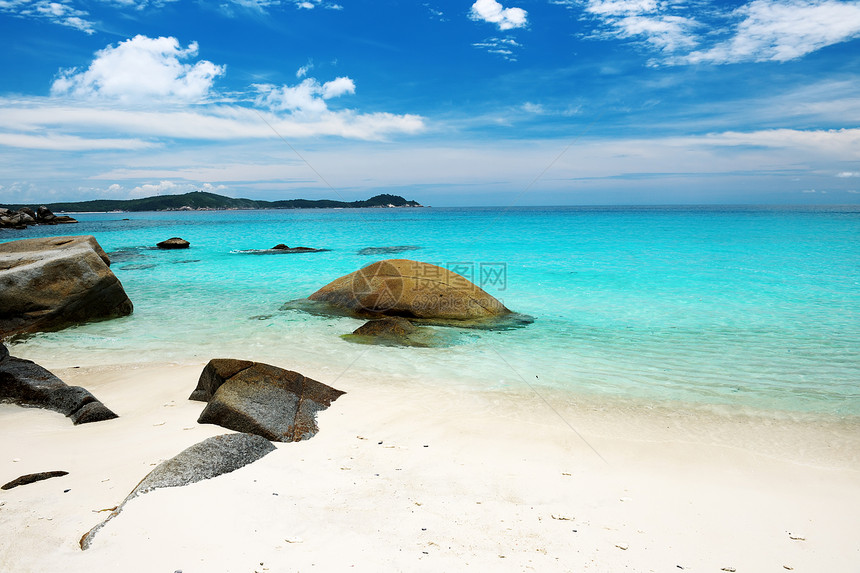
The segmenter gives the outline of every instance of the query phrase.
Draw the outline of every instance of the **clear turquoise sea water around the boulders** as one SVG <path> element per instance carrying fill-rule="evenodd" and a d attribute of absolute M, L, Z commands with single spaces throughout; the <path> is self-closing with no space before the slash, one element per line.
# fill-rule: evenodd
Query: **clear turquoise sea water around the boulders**
<path fill-rule="evenodd" d="M 860 208 L 613 207 L 76 215 L 0 240 L 93 234 L 132 316 L 41 334 L 49 367 L 249 358 L 470 388 L 860 415 Z M 129 219 L 123 221 L 123 218 Z M 151 248 L 180 236 L 182 251 Z M 330 249 L 254 256 L 278 243 Z M 409 246 L 391 255 L 369 247 Z M 381 258 L 450 266 L 525 328 L 446 348 L 340 339 L 361 321 L 280 310 Z M 483 273 L 483 274 L 482 274 Z M 313 369 L 313 368 L 312 368 Z"/>

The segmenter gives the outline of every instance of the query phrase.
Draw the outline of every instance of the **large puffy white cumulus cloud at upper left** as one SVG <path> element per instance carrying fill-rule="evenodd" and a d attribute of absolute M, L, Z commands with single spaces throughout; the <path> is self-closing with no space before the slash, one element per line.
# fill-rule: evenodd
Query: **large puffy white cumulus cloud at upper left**
<path fill-rule="evenodd" d="M 197 50 L 196 42 L 182 48 L 176 38 L 138 35 L 96 52 L 86 70 L 61 71 L 51 93 L 123 102 L 199 102 L 225 68 L 207 60 L 182 62 Z"/>

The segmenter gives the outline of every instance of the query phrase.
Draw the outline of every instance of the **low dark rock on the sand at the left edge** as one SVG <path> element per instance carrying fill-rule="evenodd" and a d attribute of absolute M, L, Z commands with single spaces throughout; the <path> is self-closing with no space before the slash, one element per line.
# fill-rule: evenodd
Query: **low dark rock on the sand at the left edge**
<path fill-rule="evenodd" d="M 85 388 L 65 382 L 30 360 L 0 360 L 0 402 L 59 412 L 72 423 L 86 424 L 118 417 Z"/>

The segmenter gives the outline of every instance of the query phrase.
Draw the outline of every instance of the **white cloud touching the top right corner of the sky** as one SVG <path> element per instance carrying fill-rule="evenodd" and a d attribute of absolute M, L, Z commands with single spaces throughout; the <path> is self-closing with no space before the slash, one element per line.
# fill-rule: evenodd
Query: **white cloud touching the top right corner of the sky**
<path fill-rule="evenodd" d="M 717 64 L 785 62 L 860 37 L 860 3 L 838 0 L 755 0 L 735 11 L 735 35 L 689 54 L 686 61 Z"/>

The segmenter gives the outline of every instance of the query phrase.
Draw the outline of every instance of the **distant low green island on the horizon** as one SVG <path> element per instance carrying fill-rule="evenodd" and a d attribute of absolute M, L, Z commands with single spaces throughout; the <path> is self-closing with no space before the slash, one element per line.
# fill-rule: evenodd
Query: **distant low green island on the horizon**
<path fill-rule="evenodd" d="M 355 209 L 385 207 L 422 207 L 417 201 L 407 201 L 399 195 L 376 195 L 364 201 L 333 201 L 330 199 L 286 199 L 283 201 L 259 201 L 256 199 L 233 199 L 215 193 L 194 191 L 184 195 L 158 195 L 143 199 L 97 199 L 66 203 L 45 203 L 51 211 L 65 213 L 110 212 L 110 211 L 216 211 L 223 209 Z M 33 205 L 0 204 L 10 211 Z"/>

